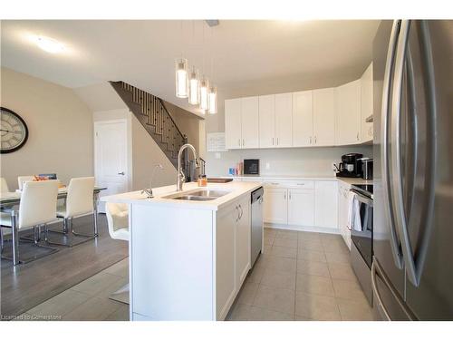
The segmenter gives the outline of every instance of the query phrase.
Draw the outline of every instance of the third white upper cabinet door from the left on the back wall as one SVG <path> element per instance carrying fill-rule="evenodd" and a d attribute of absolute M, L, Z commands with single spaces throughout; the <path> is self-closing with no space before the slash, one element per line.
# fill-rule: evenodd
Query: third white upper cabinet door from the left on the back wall
<path fill-rule="evenodd" d="M 275 146 L 275 95 L 259 96 L 259 147 Z"/>

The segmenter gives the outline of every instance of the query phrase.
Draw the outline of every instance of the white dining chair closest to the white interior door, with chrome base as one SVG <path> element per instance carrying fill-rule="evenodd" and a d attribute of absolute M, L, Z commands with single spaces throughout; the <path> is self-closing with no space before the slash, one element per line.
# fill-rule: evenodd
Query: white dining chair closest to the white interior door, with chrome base
<path fill-rule="evenodd" d="M 50 232 L 63 233 L 68 236 L 71 231 L 73 236 L 82 238 L 95 238 L 96 231 L 92 235 L 82 234 L 75 232 L 72 228 L 72 219 L 79 218 L 86 215 L 94 216 L 94 203 L 93 203 L 93 191 L 94 191 L 94 177 L 79 177 L 72 179 L 69 182 L 68 194 L 66 197 L 66 204 L 59 206 L 56 211 L 56 216 L 59 219 L 63 219 L 63 231 L 49 230 Z M 95 223 L 95 222 L 94 222 Z M 67 241 L 50 241 L 49 244 L 55 244 L 60 246 L 72 247 L 73 243 L 71 240 Z"/>

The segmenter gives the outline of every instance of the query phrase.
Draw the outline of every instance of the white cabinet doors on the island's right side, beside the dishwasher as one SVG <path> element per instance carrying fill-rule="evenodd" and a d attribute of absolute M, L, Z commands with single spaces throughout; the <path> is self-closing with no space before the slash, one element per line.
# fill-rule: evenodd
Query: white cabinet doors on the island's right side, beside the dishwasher
<path fill-rule="evenodd" d="M 217 212 L 216 319 L 225 319 L 250 270 L 250 196 Z"/>

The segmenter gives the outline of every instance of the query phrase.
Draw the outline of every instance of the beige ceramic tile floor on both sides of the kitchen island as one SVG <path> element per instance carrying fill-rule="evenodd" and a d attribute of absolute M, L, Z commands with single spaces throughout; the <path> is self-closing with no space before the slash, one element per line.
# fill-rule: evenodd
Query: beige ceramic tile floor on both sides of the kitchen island
<path fill-rule="evenodd" d="M 129 320 L 109 295 L 128 281 L 128 258 L 28 310 L 18 320 Z M 338 235 L 265 228 L 265 249 L 226 320 L 372 320 Z"/>

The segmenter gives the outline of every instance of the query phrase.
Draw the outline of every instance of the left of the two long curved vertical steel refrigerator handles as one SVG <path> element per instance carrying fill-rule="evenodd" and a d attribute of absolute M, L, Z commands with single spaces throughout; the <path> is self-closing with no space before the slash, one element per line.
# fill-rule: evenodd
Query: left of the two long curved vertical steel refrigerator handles
<path fill-rule="evenodd" d="M 381 110 L 381 173 L 382 173 L 382 187 L 384 206 L 390 219 L 390 247 L 393 255 L 395 266 L 402 269 L 403 262 L 400 254 L 400 246 L 398 236 L 395 230 L 395 223 L 393 218 L 393 209 L 390 207 L 390 193 L 391 187 L 389 185 L 389 111 L 390 111 L 390 81 L 393 69 L 393 62 L 395 59 L 396 45 L 398 42 L 398 35 L 400 32 L 400 20 L 395 20 L 391 28 L 389 50 L 387 51 L 387 60 L 385 63 L 384 81 L 382 86 L 382 110 Z"/>

